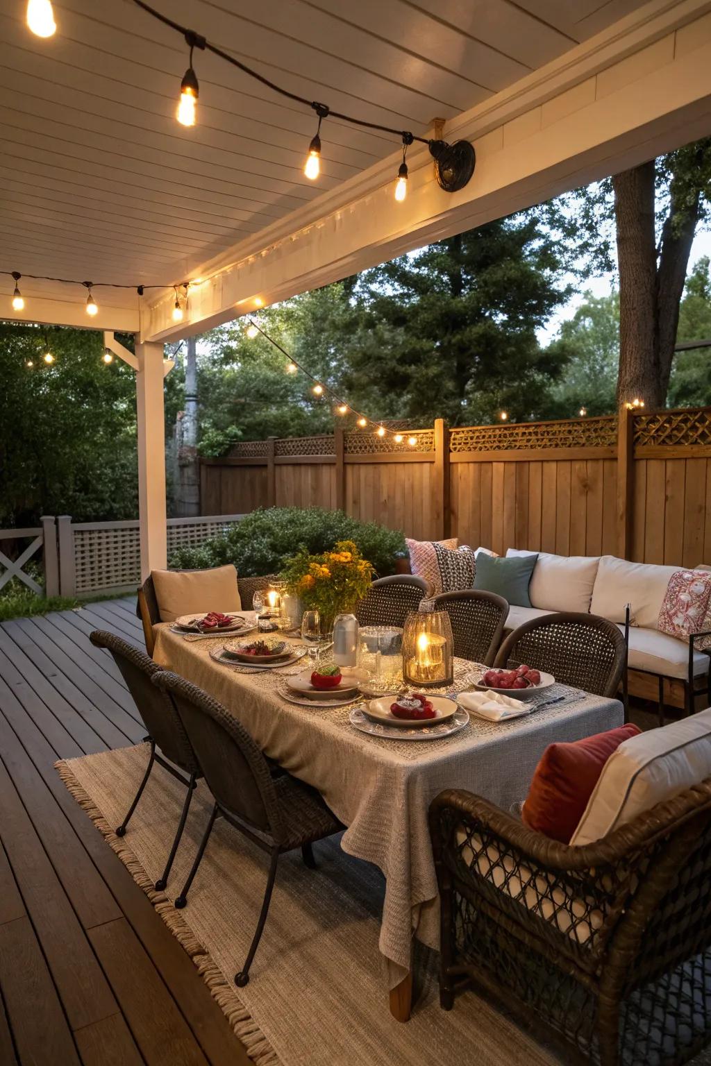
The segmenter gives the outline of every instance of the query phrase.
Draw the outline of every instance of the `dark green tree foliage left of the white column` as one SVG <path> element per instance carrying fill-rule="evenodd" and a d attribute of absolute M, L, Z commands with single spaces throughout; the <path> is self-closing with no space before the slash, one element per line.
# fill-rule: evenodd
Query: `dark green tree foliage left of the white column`
<path fill-rule="evenodd" d="M 96 332 L 0 325 L 0 526 L 135 517 L 133 371 L 102 354 Z"/>

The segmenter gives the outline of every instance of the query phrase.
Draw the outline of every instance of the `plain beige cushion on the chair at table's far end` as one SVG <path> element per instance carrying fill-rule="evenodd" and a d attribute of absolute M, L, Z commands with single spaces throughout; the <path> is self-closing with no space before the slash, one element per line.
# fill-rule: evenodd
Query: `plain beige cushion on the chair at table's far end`
<path fill-rule="evenodd" d="M 161 621 L 175 621 L 181 614 L 208 611 L 241 611 L 237 568 L 213 570 L 151 570 Z"/>

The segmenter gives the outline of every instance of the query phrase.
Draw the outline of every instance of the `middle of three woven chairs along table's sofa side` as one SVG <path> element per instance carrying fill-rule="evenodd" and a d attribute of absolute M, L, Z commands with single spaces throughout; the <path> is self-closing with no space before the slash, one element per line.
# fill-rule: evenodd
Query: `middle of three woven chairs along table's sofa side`
<path fill-rule="evenodd" d="M 454 655 L 490 666 L 501 644 L 508 603 L 496 593 L 465 588 L 433 599 L 436 611 L 447 611 L 452 623 Z"/>

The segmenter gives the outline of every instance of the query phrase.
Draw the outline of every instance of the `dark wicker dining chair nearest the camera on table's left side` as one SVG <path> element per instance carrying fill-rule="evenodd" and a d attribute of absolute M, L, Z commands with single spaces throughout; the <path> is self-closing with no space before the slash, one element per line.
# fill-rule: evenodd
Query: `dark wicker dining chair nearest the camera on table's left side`
<path fill-rule="evenodd" d="M 273 777 L 244 726 L 211 696 L 168 671 L 155 674 L 152 681 L 173 700 L 214 797 L 195 861 L 175 906 L 180 909 L 188 903 L 190 886 L 219 815 L 270 856 L 257 928 L 244 966 L 235 976 L 242 988 L 249 981 L 249 967 L 266 921 L 279 855 L 301 847 L 304 862 L 313 869 L 312 843 L 339 833 L 343 825 L 316 789 L 288 773 Z"/>

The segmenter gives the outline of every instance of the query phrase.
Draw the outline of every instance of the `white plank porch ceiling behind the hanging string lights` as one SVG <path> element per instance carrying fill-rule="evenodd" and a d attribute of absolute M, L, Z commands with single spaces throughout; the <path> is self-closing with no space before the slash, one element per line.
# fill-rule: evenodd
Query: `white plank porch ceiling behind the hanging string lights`
<path fill-rule="evenodd" d="M 333 109 L 425 135 L 643 6 L 642 0 L 155 0 L 264 76 Z M 175 120 L 187 47 L 130 0 L 54 2 L 33 36 L 0 11 L 0 269 L 179 282 L 398 148 L 337 119 L 320 179 L 313 114 L 196 51 L 198 122 Z M 394 175 L 393 175 L 394 177 Z M 0 293 L 11 292 L 0 278 Z M 26 296 L 82 290 L 25 278 Z M 98 290 L 103 306 L 138 297 Z M 88 323 L 87 323 L 88 324 Z"/>

